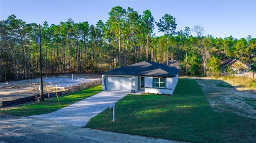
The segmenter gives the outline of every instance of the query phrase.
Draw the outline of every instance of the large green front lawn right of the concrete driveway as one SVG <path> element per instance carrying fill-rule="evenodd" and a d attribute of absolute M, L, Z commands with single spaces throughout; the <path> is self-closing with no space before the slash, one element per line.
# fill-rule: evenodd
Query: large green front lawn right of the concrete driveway
<path fill-rule="evenodd" d="M 256 119 L 214 112 L 194 79 L 179 79 L 172 96 L 128 94 L 112 113 L 104 110 L 86 127 L 192 143 L 255 143 Z"/>

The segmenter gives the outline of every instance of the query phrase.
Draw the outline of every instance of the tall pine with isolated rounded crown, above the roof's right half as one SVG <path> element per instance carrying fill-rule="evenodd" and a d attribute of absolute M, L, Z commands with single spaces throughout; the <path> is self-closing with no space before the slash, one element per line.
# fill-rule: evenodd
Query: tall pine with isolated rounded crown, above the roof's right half
<path fill-rule="evenodd" d="M 162 19 L 159 20 L 159 22 L 156 22 L 156 25 L 158 27 L 158 32 L 164 32 L 167 37 L 167 47 L 166 47 L 166 56 L 167 56 L 167 65 L 169 61 L 169 55 L 168 55 L 168 41 L 170 35 L 175 35 L 176 30 L 176 22 L 175 18 L 173 16 L 170 16 L 170 14 L 165 14 Z"/>

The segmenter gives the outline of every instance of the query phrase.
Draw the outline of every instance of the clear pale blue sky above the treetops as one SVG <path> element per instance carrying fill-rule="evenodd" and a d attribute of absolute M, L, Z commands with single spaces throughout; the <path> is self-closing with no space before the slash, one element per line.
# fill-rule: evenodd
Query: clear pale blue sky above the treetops
<path fill-rule="evenodd" d="M 74 23 L 96 25 L 102 20 L 105 24 L 115 6 L 133 8 L 139 15 L 150 10 L 155 22 L 170 14 L 176 19 L 176 31 L 200 25 L 205 36 L 256 38 L 256 0 L 0 0 L 0 20 L 14 14 L 27 24 L 59 25 L 68 18 Z M 156 36 L 163 35 L 154 25 Z"/>

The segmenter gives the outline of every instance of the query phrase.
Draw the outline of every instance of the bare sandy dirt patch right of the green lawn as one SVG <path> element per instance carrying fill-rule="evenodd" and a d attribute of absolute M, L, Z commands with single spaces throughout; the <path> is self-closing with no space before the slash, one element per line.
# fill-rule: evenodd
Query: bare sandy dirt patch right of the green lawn
<path fill-rule="evenodd" d="M 196 81 L 213 110 L 256 119 L 256 88 L 240 87 L 223 78 L 197 78 Z"/>

